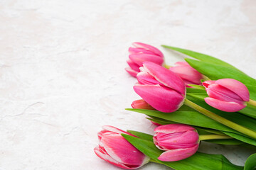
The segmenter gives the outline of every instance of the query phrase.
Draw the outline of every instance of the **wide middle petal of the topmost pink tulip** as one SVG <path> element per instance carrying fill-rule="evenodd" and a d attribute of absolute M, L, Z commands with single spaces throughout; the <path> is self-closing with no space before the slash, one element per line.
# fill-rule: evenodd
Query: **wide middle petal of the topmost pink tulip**
<path fill-rule="evenodd" d="M 139 66 L 142 66 L 143 62 L 154 62 L 156 64 L 163 64 L 164 59 L 161 57 L 158 57 L 156 55 L 129 55 L 129 59 L 132 60 L 132 62 L 138 64 Z"/>

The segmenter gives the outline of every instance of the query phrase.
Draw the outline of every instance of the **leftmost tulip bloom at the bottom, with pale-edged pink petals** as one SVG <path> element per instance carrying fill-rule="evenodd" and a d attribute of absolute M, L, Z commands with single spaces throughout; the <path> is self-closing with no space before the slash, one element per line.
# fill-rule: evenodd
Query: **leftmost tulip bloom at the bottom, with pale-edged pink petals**
<path fill-rule="evenodd" d="M 112 126 L 104 126 L 103 130 L 98 133 L 100 142 L 99 146 L 94 149 L 95 154 L 101 159 L 110 162 L 110 164 L 123 169 L 138 169 L 148 163 L 150 158 L 127 142 L 120 135 L 121 133 L 132 135 Z"/>

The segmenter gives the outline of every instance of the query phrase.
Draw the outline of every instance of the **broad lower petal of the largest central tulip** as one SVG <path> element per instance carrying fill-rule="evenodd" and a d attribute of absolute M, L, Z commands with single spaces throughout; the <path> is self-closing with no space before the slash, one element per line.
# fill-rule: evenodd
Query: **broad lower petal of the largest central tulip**
<path fill-rule="evenodd" d="M 134 85 L 134 91 L 158 111 L 170 113 L 182 106 L 184 97 L 177 91 L 157 85 Z M 150 92 L 149 92 L 150 91 Z"/>

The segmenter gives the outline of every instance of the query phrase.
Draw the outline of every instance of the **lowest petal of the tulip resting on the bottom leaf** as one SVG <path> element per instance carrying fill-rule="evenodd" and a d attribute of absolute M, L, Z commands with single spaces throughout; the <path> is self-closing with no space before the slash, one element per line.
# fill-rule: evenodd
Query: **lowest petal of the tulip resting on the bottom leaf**
<path fill-rule="evenodd" d="M 186 159 L 196 153 L 198 146 L 196 145 L 186 149 L 172 149 L 162 153 L 158 159 L 163 162 L 176 162 Z"/>

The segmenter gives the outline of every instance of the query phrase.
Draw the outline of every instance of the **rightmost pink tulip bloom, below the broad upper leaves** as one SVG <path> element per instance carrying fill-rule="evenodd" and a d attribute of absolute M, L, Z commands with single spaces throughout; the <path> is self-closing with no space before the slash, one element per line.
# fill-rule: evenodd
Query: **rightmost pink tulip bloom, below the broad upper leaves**
<path fill-rule="evenodd" d="M 220 111 L 236 112 L 246 107 L 250 100 L 250 94 L 240 81 L 235 79 L 219 79 L 217 81 L 204 81 L 203 86 L 209 97 L 205 98 L 206 103 Z"/>

